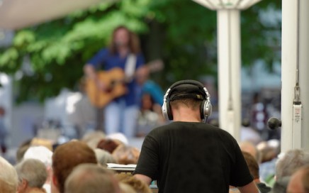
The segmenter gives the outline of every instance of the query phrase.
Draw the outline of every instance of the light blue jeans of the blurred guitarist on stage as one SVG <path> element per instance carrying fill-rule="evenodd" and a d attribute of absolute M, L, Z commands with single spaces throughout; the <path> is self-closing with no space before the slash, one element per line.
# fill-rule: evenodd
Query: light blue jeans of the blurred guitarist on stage
<path fill-rule="evenodd" d="M 125 101 L 112 102 L 105 107 L 104 121 L 106 134 L 123 133 L 133 138 L 136 133 L 138 106 L 125 106 Z"/>

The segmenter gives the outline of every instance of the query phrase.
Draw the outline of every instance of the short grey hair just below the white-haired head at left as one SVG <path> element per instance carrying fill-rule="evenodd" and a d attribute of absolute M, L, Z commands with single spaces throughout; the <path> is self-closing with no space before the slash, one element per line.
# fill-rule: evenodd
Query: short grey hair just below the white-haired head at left
<path fill-rule="evenodd" d="M 28 187 L 42 188 L 47 180 L 47 170 L 43 162 L 36 159 L 27 159 L 16 166 L 18 180 L 26 180 Z"/>

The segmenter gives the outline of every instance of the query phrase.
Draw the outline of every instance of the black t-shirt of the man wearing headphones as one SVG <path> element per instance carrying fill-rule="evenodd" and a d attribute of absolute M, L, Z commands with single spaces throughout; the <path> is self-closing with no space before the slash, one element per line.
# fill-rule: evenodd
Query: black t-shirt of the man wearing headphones
<path fill-rule="evenodd" d="M 135 174 L 157 180 L 159 192 L 228 192 L 252 182 L 237 141 L 206 123 L 154 128 L 142 144 Z"/>

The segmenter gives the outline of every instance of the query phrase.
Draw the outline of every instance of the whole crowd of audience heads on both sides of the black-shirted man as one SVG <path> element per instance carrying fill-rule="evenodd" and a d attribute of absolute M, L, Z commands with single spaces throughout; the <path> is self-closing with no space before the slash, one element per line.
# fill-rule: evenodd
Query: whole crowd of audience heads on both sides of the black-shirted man
<path fill-rule="evenodd" d="M 280 153 L 279 140 L 260 143 L 247 140 L 239 145 L 249 172 L 262 193 L 309 193 L 307 150 Z M 0 192 L 27 193 L 33 189 L 47 193 L 152 192 L 149 184 L 137 180 L 132 173 L 119 173 L 108 168 L 108 163 L 137 164 L 139 156 L 140 150 L 130 146 L 128 139 L 120 133 L 106 136 L 101 131 L 93 131 L 80 140 L 63 144 L 33 138 L 21 143 L 14 166 L 0 157 Z M 271 170 L 265 167 L 267 165 Z M 267 178 L 261 170 L 273 172 Z M 230 192 L 239 190 L 231 187 Z"/>

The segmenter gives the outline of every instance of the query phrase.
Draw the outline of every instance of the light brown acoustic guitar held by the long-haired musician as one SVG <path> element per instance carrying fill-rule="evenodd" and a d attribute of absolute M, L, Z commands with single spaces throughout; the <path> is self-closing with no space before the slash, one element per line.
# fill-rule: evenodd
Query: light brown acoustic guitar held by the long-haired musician
<path fill-rule="evenodd" d="M 153 60 L 147 63 L 145 67 L 148 68 L 149 72 L 157 72 L 163 69 L 164 64 L 162 60 Z M 96 76 L 99 82 L 107 86 L 107 89 L 101 90 L 93 79 L 86 79 L 86 94 L 92 105 L 103 108 L 113 99 L 123 96 L 128 92 L 126 84 L 130 77 L 126 77 L 125 72 L 121 68 L 115 67 L 108 71 L 99 71 Z M 136 72 L 133 77 L 136 77 Z"/>

